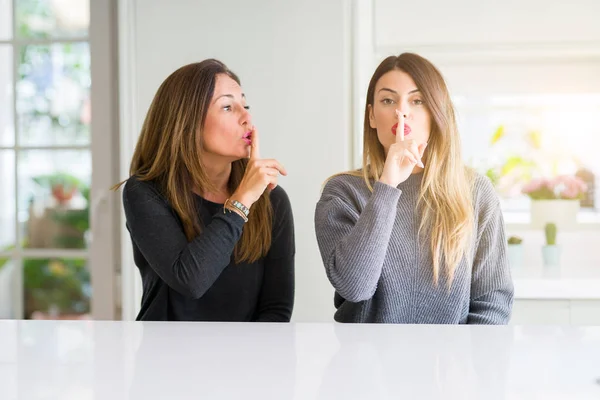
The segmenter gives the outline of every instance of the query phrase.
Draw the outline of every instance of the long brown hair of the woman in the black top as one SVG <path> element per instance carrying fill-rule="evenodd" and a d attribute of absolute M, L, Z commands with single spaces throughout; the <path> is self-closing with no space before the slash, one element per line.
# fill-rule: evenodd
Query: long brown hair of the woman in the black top
<path fill-rule="evenodd" d="M 202 232 L 194 189 L 214 192 L 202 163 L 202 134 L 217 75 L 240 80 L 225 64 L 208 59 L 185 65 L 158 88 L 144 120 L 129 175 L 156 182 L 181 219 L 188 241 Z M 228 189 L 233 193 L 246 171 L 247 159 L 231 165 Z M 125 181 L 115 185 L 117 190 Z M 252 206 L 234 255 L 237 263 L 254 262 L 271 247 L 273 210 L 268 191 Z"/>

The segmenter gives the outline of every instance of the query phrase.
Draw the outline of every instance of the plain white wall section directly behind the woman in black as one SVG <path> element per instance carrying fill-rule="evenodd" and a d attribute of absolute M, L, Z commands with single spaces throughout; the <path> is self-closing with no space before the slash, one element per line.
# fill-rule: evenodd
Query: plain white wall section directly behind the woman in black
<path fill-rule="evenodd" d="M 121 52 L 128 77 L 121 90 L 129 91 L 122 95 L 122 106 L 133 107 L 132 113 L 121 114 L 124 129 L 137 136 L 156 89 L 176 68 L 214 57 L 236 72 L 261 132 L 261 155 L 279 159 L 288 170 L 280 183 L 291 199 L 296 225 L 293 320 L 332 320 L 333 290 L 318 252 L 313 218 L 324 179 L 351 165 L 350 1 L 133 4 L 121 7 L 129 13 L 121 16 L 121 41 L 129 51 Z M 129 160 L 134 139 L 123 139 L 124 159 Z M 131 278 L 137 272 L 128 240 L 124 236 L 124 274 Z M 124 285 L 133 285 L 125 275 Z M 138 295 L 132 300 L 135 306 Z M 126 299 L 124 303 L 129 304 Z"/>

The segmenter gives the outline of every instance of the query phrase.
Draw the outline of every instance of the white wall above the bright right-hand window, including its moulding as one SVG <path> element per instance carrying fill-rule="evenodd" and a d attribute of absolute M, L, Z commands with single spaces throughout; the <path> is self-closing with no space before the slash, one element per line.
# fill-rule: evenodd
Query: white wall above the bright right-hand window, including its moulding
<path fill-rule="evenodd" d="M 417 52 L 453 94 L 600 92 L 597 0 L 373 2 L 376 57 Z"/>

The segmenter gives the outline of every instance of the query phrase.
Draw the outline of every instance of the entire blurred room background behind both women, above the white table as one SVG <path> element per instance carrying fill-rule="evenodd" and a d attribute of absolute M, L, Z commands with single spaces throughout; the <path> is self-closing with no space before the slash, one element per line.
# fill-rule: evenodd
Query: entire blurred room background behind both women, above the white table
<path fill-rule="evenodd" d="M 0 0 L 0 318 L 135 318 L 109 188 L 160 83 L 214 57 L 289 171 L 293 320 L 331 321 L 314 207 L 360 166 L 375 67 L 411 51 L 445 76 L 465 160 L 501 197 L 511 323 L 600 324 L 599 16 L 595 0 Z"/>

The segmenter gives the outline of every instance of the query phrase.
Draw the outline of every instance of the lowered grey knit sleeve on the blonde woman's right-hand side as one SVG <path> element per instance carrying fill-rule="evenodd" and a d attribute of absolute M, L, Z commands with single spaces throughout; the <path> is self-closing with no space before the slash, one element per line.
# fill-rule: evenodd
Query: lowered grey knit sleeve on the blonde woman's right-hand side
<path fill-rule="evenodd" d="M 479 239 L 471 279 L 469 324 L 507 324 L 514 288 L 507 258 L 504 219 L 500 202 L 489 180 L 479 182 Z"/>

